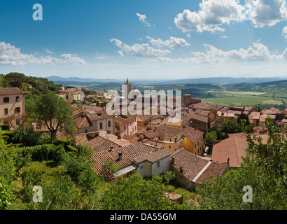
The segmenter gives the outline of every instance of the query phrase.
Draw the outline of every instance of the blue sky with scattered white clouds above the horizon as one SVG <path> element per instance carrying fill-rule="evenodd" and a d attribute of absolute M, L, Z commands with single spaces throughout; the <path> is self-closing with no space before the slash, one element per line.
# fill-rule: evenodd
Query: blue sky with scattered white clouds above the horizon
<path fill-rule="evenodd" d="M 285 0 L 2 0 L 0 73 L 287 76 L 286 21 Z"/>

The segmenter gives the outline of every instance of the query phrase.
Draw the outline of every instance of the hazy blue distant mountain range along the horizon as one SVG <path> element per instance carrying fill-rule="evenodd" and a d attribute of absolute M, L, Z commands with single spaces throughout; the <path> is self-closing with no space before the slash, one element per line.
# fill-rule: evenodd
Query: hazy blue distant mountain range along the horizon
<path fill-rule="evenodd" d="M 83 83 L 123 83 L 124 79 L 97 79 L 97 78 L 79 78 L 79 77 L 69 77 L 63 78 L 60 76 L 49 76 L 45 77 L 48 80 L 53 81 L 55 84 L 64 84 L 69 85 L 67 83 L 71 83 L 71 85 L 80 85 Z M 239 83 L 266 83 L 266 82 L 273 82 L 273 81 L 280 81 L 280 80 L 287 80 L 286 78 L 279 78 L 279 77 L 270 77 L 270 78 L 232 78 L 232 77 L 214 77 L 214 78 L 188 78 L 188 79 L 175 79 L 175 80 L 139 80 L 139 79 L 132 79 L 130 78 L 132 83 L 134 84 L 157 84 L 157 85 L 170 85 L 170 84 L 239 84 Z"/>

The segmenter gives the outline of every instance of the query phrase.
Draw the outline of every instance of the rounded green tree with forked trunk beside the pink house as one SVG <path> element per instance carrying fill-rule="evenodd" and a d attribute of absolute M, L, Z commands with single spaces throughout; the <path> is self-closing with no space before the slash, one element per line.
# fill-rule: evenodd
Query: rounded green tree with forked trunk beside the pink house
<path fill-rule="evenodd" d="M 50 144 L 53 143 L 59 130 L 74 137 L 73 111 L 68 105 L 69 102 L 62 97 L 57 97 L 54 92 L 48 91 L 32 100 L 27 106 L 29 115 L 35 116 L 38 121 L 38 127 L 45 126 L 50 131 Z"/>

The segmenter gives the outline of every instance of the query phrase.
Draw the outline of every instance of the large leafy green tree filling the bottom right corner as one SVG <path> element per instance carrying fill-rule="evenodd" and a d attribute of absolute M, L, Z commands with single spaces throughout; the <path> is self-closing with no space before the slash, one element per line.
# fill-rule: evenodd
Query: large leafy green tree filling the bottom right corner
<path fill-rule="evenodd" d="M 287 209 L 287 139 L 269 118 L 268 140 L 246 131 L 248 148 L 241 168 L 197 188 L 197 209 Z M 244 202 L 244 186 L 252 188 Z"/>

